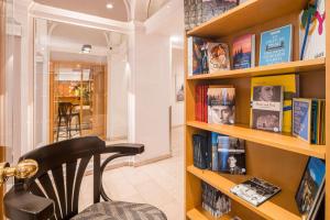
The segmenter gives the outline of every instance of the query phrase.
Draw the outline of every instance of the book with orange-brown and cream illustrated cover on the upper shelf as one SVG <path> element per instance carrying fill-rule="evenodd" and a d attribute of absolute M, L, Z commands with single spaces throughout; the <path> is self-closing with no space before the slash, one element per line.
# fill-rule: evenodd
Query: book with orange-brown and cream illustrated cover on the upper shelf
<path fill-rule="evenodd" d="M 209 73 L 213 74 L 230 69 L 229 48 L 227 44 L 209 42 L 208 43 Z"/>

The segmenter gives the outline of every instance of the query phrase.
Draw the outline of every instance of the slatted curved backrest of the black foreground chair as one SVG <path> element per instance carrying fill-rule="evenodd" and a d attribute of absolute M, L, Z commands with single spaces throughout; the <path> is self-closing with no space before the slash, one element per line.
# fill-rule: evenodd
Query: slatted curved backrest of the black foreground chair
<path fill-rule="evenodd" d="M 55 204 L 56 219 L 69 219 L 78 213 L 79 190 L 87 165 L 94 160 L 94 198 L 100 199 L 100 153 L 106 143 L 97 136 L 87 136 L 57 142 L 36 148 L 24 158 L 38 163 L 38 172 L 26 180 L 15 179 L 15 185 L 25 184 L 29 191 L 50 198 Z"/>

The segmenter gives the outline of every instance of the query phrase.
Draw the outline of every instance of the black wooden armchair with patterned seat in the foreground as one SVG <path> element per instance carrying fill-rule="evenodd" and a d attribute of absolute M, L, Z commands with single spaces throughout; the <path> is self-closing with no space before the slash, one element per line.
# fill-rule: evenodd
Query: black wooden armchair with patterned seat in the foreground
<path fill-rule="evenodd" d="M 109 219 L 166 220 L 150 205 L 111 201 L 102 185 L 103 170 L 114 158 L 141 154 L 142 144 L 106 145 L 96 136 L 78 138 L 36 148 L 25 155 L 38 170 L 30 179 L 15 179 L 3 199 L 4 213 L 12 220 Z M 103 163 L 101 154 L 113 153 Z M 94 205 L 78 213 L 79 189 L 89 162 L 94 164 Z M 100 202 L 100 198 L 105 201 Z"/>

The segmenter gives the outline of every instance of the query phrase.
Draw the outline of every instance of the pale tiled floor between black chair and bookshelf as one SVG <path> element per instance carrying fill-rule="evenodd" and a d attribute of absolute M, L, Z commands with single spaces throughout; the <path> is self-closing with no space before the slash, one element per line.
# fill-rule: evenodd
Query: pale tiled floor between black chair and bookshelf
<path fill-rule="evenodd" d="M 140 167 L 121 167 L 103 175 L 105 188 L 113 200 L 151 204 L 168 220 L 184 219 L 184 131 L 172 132 L 173 157 Z M 80 206 L 92 201 L 92 176 L 85 177 Z"/>

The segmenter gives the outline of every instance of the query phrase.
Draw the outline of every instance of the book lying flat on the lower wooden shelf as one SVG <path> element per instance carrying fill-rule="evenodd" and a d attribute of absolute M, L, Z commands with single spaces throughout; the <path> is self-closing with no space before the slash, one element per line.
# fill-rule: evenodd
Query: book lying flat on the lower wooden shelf
<path fill-rule="evenodd" d="M 253 177 L 230 189 L 230 191 L 253 206 L 260 206 L 280 191 L 278 186 Z"/>

